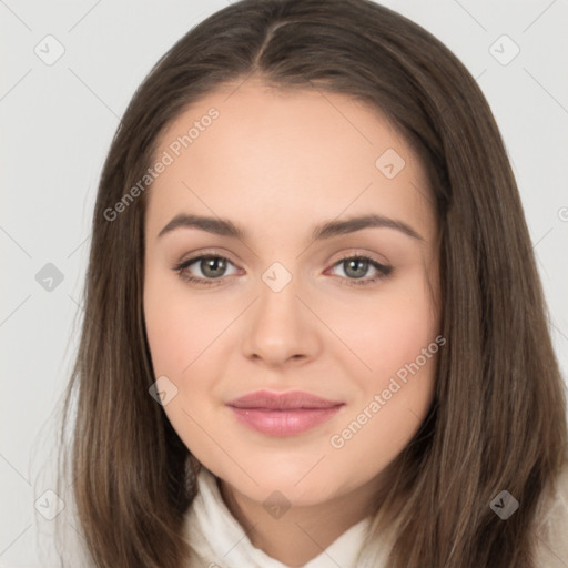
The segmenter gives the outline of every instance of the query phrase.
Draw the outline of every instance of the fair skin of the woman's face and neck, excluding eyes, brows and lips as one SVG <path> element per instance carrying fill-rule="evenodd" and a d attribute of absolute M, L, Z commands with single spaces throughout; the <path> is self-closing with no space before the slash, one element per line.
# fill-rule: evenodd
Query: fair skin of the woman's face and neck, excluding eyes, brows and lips
<path fill-rule="evenodd" d="M 418 159 L 378 112 L 342 94 L 237 84 L 160 138 L 158 156 L 212 106 L 220 112 L 146 195 L 145 325 L 155 376 L 178 388 L 164 406 L 174 429 L 221 479 L 253 545 L 301 566 L 372 514 L 381 473 L 426 416 L 437 355 L 342 447 L 331 444 L 439 333 L 437 226 Z M 393 179 L 375 165 L 387 149 L 406 162 Z M 181 213 L 229 219 L 246 235 L 179 226 L 159 236 Z M 381 226 L 311 239 L 316 224 L 369 214 L 420 237 Z M 227 260 L 209 287 L 173 270 L 200 254 Z M 339 262 L 357 254 L 392 272 Z M 263 280 L 275 262 L 292 276 L 278 292 Z M 216 270 L 196 261 L 184 274 L 213 282 Z M 260 389 L 343 405 L 307 432 L 266 435 L 225 404 Z M 291 505 L 280 518 L 263 506 L 275 490 Z"/>

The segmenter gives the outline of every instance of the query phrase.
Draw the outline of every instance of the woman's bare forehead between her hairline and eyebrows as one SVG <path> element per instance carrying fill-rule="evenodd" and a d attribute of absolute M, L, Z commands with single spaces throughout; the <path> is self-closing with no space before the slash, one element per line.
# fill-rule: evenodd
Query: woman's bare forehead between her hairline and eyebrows
<path fill-rule="evenodd" d="M 395 216 L 408 210 L 415 224 L 432 213 L 416 154 L 378 110 L 349 95 L 255 81 L 225 85 L 162 132 L 155 160 L 166 155 L 149 192 L 154 232 L 158 219 L 195 210 L 266 223 L 308 212 L 310 224 L 318 213 L 377 206 Z"/>

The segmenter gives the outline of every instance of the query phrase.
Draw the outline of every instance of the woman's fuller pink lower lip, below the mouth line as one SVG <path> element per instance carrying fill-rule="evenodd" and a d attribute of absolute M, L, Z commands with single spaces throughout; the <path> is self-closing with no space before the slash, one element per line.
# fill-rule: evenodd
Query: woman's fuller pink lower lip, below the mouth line
<path fill-rule="evenodd" d="M 292 408 L 268 410 L 266 408 L 236 408 L 230 406 L 236 419 L 253 430 L 268 436 L 294 436 L 302 434 L 332 418 L 341 406 L 329 408 Z"/>

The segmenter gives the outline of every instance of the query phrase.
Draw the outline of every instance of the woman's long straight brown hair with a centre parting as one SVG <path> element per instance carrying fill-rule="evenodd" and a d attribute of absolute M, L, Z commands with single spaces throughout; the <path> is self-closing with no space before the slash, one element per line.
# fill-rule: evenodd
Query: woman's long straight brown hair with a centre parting
<path fill-rule="evenodd" d="M 61 429 L 69 469 L 61 491 L 72 490 L 90 561 L 184 566 L 182 524 L 199 469 L 149 395 L 145 193 L 116 219 L 109 209 L 142 179 L 160 134 L 187 105 L 253 74 L 369 103 L 429 175 L 447 345 L 430 410 L 388 467 L 374 526 L 392 531 L 388 566 L 534 566 L 537 504 L 567 462 L 566 397 L 514 174 L 465 67 L 423 28 L 369 0 L 236 2 L 184 36 L 124 113 L 100 180 Z M 507 521 L 489 507 L 501 489 L 520 503 Z"/>

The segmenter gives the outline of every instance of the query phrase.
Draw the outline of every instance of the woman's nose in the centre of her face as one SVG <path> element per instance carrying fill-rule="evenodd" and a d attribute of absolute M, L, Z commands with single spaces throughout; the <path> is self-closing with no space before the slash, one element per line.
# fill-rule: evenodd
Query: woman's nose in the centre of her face
<path fill-rule="evenodd" d="M 298 296 L 294 277 L 275 290 L 258 285 L 258 297 L 245 314 L 244 354 L 271 367 L 304 364 L 321 351 L 317 318 Z"/>

